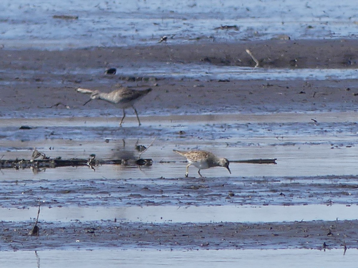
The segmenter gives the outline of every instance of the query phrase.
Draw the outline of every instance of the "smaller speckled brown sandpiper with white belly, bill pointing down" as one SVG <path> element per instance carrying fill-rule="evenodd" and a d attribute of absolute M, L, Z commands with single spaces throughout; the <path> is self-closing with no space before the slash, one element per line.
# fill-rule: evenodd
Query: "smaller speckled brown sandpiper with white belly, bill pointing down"
<path fill-rule="evenodd" d="M 187 158 L 189 162 L 189 164 L 187 165 L 187 173 L 185 173 L 185 177 L 188 177 L 188 170 L 191 164 L 193 164 L 195 167 L 199 169 L 198 174 L 200 175 L 200 177 L 203 177 L 202 174 L 200 174 L 200 169 L 207 169 L 212 167 L 227 168 L 227 170 L 229 170 L 229 173 L 231 174 L 231 171 L 229 169 L 229 160 L 227 160 L 226 158 L 218 158 L 216 155 L 214 155 L 211 152 L 207 152 L 207 151 L 183 152 L 177 150 L 173 150 L 173 151 Z"/>

